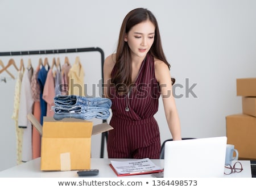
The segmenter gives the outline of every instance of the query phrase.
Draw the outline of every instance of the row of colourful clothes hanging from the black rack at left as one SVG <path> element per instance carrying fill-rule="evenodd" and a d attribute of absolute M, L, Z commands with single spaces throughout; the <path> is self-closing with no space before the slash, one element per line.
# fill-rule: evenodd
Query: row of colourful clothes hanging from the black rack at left
<path fill-rule="evenodd" d="M 18 72 L 12 116 L 16 125 L 17 164 L 40 157 L 41 136 L 28 121 L 27 114 L 34 114 L 39 123 L 43 125 L 44 116 L 53 117 L 54 115 L 51 108 L 54 106 L 53 98 L 56 95 L 68 94 L 68 90 L 65 91 L 63 86 L 70 89 L 69 83 L 79 81 L 77 75 L 84 75 L 78 56 L 74 65 L 78 65 L 77 68 L 79 69 L 76 69 L 76 66 L 71 69 L 72 65 L 65 57 L 65 63 L 62 66 L 64 69 L 61 70 L 60 60 L 58 61 L 59 66 L 55 65 L 51 68 L 48 64 L 48 58 L 45 58 L 44 64 L 42 58 L 39 58 L 39 64 L 34 70 L 30 60 L 27 68 L 23 69 L 24 73 L 22 71 Z M 13 59 L 9 62 L 11 64 L 15 63 Z M 70 71 L 72 73 L 69 73 Z M 72 82 L 69 75 L 73 77 Z M 79 79 L 84 78 L 80 77 Z M 74 86 L 76 85 L 84 86 L 81 85 L 81 82 L 79 84 L 74 83 Z"/>

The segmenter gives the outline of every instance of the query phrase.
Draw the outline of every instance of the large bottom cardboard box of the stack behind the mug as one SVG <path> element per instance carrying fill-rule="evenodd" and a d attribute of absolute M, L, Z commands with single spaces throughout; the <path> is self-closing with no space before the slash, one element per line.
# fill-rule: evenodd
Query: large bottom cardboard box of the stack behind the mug
<path fill-rule="evenodd" d="M 228 144 L 238 150 L 239 159 L 256 159 L 256 117 L 236 114 L 226 116 Z"/>

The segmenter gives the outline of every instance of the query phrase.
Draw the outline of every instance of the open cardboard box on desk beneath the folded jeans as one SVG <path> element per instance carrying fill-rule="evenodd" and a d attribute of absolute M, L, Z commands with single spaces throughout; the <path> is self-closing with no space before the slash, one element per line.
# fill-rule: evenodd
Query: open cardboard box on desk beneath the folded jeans
<path fill-rule="evenodd" d="M 41 170 L 67 171 L 90 169 L 91 136 L 113 129 L 108 123 L 44 117 L 43 127 L 32 114 L 28 119 L 42 135 Z"/>

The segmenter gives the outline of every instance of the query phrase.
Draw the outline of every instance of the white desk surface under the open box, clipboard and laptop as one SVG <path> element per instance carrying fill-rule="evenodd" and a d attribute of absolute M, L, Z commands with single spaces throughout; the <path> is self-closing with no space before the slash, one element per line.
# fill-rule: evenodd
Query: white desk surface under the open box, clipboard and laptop
<path fill-rule="evenodd" d="M 115 161 L 127 161 L 128 159 L 108 159 L 108 158 L 92 158 L 91 160 L 91 168 L 99 169 L 100 173 L 97 176 L 90 177 L 99 177 L 99 178 L 113 178 L 117 177 L 114 171 L 110 168 L 109 163 L 110 160 Z M 50 178 L 50 177 L 59 177 L 59 178 L 73 178 L 78 177 L 77 171 L 41 171 L 40 170 L 40 158 L 33 159 L 26 163 L 22 163 L 21 165 L 11 167 L 10 169 L 6 169 L 0 171 L 0 178 Z M 155 165 L 159 167 L 164 167 L 163 159 L 151 159 Z M 251 177 L 251 165 L 250 161 L 241 160 L 240 161 L 243 166 L 243 171 L 241 173 L 233 173 L 230 175 L 224 175 L 224 177 Z M 89 177 L 89 176 L 86 176 Z M 125 177 L 151 177 L 151 174 L 143 174 L 143 175 L 131 175 Z"/>

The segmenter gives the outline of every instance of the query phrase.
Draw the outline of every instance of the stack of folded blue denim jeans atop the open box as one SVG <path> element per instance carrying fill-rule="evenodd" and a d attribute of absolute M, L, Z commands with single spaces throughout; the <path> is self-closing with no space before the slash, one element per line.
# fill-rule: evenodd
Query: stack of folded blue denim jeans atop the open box
<path fill-rule="evenodd" d="M 56 95 L 53 118 L 61 120 L 63 118 L 77 118 L 89 120 L 92 118 L 108 119 L 112 106 L 112 101 L 108 98 L 87 98 L 77 95 Z"/>

